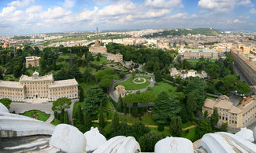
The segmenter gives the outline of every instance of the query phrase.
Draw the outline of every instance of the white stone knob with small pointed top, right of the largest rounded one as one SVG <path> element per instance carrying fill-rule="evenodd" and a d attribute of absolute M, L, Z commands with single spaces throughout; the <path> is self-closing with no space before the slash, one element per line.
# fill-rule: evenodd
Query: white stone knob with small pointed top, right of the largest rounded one
<path fill-rule="evenodd" d="M 86 138 L 86 151 L 94 151 L 99 148 L 102 144 L 106 143 L 106 138 L 98 132 L 98 128 L 91 127 L 90 131 L 83 134 Z"/>

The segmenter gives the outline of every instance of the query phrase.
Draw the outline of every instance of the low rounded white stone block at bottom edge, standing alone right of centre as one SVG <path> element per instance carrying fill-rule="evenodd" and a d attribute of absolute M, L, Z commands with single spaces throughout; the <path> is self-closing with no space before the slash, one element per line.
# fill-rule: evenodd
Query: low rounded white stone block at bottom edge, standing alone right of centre
<path fill-rule="evenodd" d="M 165 139 L 158 140 L 154 146 L 155 153 L 193 153 L 194 148 L 191 140 L 182 137 L 165 137 Z"/>

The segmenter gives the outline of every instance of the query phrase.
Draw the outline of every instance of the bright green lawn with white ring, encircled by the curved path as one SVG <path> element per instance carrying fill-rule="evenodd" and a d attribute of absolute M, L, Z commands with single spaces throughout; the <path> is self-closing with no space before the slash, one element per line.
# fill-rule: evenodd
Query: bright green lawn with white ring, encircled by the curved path
<path fill-rule="evenodd" d="M 138 77 L 135 77 L 135 78 L 138 78 Z M 147 88 L 147 86 L 150 85 L 150 82 L 148 81 L 148 79 L 150 79 L 151 77 L 140 77 L 140 78 L 146 78 L 146 82 L 144 82 L 143 84 L 135 84 L 134 82 L 132 82 L 132 80 L 134 79 L 132 77 L 132 78 L 128 78 L 124 82 L 116 83 L 115 87 L 118 85 L 121 85 L 121 86 L 124 86 L 126 90 L 137 90 L 137 89 Z"/>

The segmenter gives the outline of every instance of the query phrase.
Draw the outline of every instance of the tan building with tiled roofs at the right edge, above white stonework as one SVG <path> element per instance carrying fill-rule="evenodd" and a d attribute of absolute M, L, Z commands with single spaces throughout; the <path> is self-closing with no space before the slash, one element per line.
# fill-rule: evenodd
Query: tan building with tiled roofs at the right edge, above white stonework
<path fill-rule="evenodd" d="M 208 111 L 211 116 L 215 107 L 219 114 L 219 122 L 227 122 L 228 126 L 244 127 L 256 118 L 256 100 L 254 98 L 244 101 L 237 107 L 227 99 L 206 99 L 202 112 Z"/>

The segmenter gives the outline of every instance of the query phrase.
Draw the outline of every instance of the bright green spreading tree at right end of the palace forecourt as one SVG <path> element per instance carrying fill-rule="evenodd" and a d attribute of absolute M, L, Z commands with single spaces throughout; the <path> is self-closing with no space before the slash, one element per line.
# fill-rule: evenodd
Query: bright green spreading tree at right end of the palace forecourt
<path fill-rule="evenodd" d="M 54 101 L 53 107 L 51 109 L 53 111 L 61 111 L 65 110 L 70 107 L 71 100 L 69 98 L 63 97 L 63 98 L 58 98 L 58 100 Z"/>

